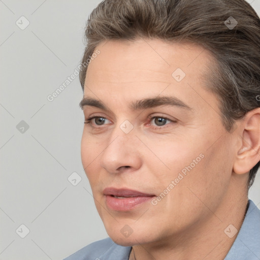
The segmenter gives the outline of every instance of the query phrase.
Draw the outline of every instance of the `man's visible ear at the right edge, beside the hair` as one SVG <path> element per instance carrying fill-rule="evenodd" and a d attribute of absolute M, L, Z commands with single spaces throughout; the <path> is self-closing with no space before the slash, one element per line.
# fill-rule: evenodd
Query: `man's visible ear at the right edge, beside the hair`
<path fill-rule="evenodd" d="M 260 160 L 260 108 L 249 111 L 241 122 L 242 145 L 237 151 L 233 171 L 248 173 Z"/>

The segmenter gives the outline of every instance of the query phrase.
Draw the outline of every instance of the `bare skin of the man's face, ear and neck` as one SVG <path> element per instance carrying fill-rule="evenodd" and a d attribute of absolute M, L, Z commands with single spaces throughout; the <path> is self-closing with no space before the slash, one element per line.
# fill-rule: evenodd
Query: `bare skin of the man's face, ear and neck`
<path fill-rule="evenodd" d="M 85 119 L 107 119 L 84 125 L 81 157 L 108 235 L 133 246 L 137 260 L 223 259 L 237 236 L 224 230 L 230 224 L 241 228 L 248 171 L 260 159 L 259 110 L 237 121 L 232 133 L 226 131 L 218 98 L 202 77 L 215 61 L 201 46 L 139 39 L 110 40 L 96 49 L 101 53 L 88 66 L 84 96 L 101 100 L 110 111 L 83 107 Z M 186 74 L 180 82 L 172 77 L 177 68 Z M 165 95 L 191 109 L 128 108 L 132 101 Z M 174 122 L 159 124 L 161 117 Z M 134 127 L 128 134 L 120 128 L 125 120 Z M 148 202 L 126 212 L 106 205 L 106 187 L 159 196 L 200 154 L 200 162 L 157 205 Z M 133 230 L 127 238 L 120 232 L 126 224 Z M 132 250 L 129 259 L 135 257 Z"/>

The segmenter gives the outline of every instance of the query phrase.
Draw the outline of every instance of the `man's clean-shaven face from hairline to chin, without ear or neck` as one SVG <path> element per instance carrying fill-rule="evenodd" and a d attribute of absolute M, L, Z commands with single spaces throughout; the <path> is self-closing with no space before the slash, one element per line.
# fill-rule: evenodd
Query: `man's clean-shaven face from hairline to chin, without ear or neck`
<path fill-rule="evenodd" d="M 235 140 L 202 77 L 213 57 L 148 39 L 96 49 L 81 103 L 94 117 L 81 157 L 96 208 L 117 244 L 167 242 L 205 223 L 229 189 Z"/>

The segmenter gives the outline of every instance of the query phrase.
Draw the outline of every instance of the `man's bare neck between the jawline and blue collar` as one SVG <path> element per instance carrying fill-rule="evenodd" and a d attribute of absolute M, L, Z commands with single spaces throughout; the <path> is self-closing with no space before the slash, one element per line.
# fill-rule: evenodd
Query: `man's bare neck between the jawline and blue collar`
<path fill-rule="evenodd" d="M 196 223 L 181 235 L 173 235 L 164 241 L 134 245 L 129 260 L 219 260 L 224 259 L 240 230 L 247 210 L 247 196 L 231 201 L 232 194 L 207 222 Z M 235 194 L 233 194 L 233 197 Z M 230 226 L 230 225 L 233 226 Z M 225 232 L 224 232 L 225 231 Z M 226 235 L 228 234 L 228 235 Z M 233 236 L 234 235 L 234 236 Z"/>

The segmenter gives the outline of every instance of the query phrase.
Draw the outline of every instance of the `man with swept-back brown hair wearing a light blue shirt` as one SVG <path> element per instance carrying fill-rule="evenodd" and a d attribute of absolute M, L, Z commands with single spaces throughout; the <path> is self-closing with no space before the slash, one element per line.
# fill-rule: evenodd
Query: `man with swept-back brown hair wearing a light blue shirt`
<path fill-rule="evenodd" d="M 254 10 L 105 0 L 86 38 L 81 157 L 110 238 L 66 260 L 260 259 L 248 200 L 260 160 Z"/>

